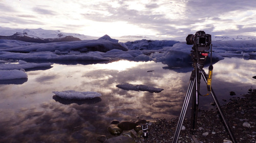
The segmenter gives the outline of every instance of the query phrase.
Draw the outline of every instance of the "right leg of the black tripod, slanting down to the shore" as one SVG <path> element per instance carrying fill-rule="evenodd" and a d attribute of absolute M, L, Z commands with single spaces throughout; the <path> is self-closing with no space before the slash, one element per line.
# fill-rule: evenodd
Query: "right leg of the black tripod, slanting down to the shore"
<path fill-rule="evenodd" d="M 206 75 L 206 73 L 204 71 L 203 71 L 203 78 L 204 78 L 204 81 L 207 84 L 207 75 Z M 217 100 L 217 97 L 215 96 L 215 93 L 214 93 L 214 91 L 212 89 L 211 89 L 211 95 L 212 95 L 212 98 L 214 98 L 214 101 L 215 101 L 215 103 L 217 105 L 217 108 L 218 108 L 218 110 L 220 112 L 221 118 L 222 118 L 222 120 L 223 120 L 223 122 L 224 122 L 224 124 L 225 124 L 225 126 L 226 126 L 226 128 L 228 130 L 228 133 L 229 133 L 229 136 L 230 136 L 232 142 L 233 143 L 237 143 L 237 140 L 236 140 L 236 138 L 234 138 L 234 135 L 233 135 L 233 133 L 232 133 L 232 131 L 231 131 L 231 129 L 230 129 L 230 127 L 229 127 L 225 117 L 224 117 L 224 114 L 223 114 L 223 112 L 221 110 L 221 107 L 220 107 L 220 104 L 219 104 L 219 102 Z"/>

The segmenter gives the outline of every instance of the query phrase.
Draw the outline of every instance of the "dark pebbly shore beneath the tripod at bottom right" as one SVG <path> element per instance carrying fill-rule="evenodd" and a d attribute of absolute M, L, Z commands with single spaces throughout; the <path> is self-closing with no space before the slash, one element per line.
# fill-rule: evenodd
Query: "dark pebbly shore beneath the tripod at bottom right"
<path fill-rule="evenodd" d="M 256 89 L 243 98 L 231 98 L 221 106 L 237 142 L 256 142 Z M 204 110 L 197 120 L 195 134 L 199 142 L 231 142 L 217 109 Z M 148 137 L 137 137 L 136 142 L 172 142 L 178 119 L 158 119 L 148 127 Z M 178 142 L 193 142 L 190 138 L 190 119 L 185 119 Z"/>

